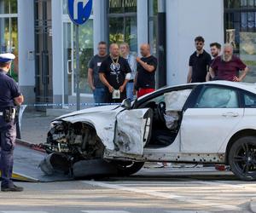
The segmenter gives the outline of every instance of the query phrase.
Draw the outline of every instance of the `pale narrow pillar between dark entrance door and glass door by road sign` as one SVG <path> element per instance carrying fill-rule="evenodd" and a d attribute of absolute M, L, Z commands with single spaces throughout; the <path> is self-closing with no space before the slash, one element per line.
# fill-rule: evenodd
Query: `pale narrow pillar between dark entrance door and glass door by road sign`
<path fill-rule="evenodd" d="M 53 101 L 64 101 L 64 68 L 63 68 L 63 27 L 62 27 L 62 3 L 51 1 L 52 9 L 52 55 L 53 55 Z"/>

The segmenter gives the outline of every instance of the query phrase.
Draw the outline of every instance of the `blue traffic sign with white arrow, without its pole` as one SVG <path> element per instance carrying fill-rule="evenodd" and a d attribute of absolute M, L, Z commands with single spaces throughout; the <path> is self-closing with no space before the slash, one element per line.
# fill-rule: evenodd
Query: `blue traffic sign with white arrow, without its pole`
<path fill-rule="evenodd" d="M 83 25 L 90 18 L 92 0 L 68 0 L 68 14 L 76 25 Z"/>

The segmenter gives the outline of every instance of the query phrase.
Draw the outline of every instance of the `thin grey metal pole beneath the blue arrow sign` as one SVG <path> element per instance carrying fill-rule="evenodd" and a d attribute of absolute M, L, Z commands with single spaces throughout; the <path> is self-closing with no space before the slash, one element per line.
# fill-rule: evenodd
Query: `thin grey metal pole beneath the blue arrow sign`
<path fill-rule="evenodd" d="M 80 110 L 80 65 L 79 65 L 79 25 L 76 28 L 76 87 L 77 87 L 77 110 Z"/>

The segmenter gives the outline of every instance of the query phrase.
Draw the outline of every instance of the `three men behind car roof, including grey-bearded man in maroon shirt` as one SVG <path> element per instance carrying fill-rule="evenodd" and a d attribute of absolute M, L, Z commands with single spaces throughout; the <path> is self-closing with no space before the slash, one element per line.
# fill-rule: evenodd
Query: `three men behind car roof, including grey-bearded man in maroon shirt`
<path fill-rule="evenodd" d="M 210 80 L 241 82 L 249 68 L 233 55 L 232 44 L 224 44 L 223 53 L 219 43 L 211 43 L 211 55 L 204 50 L 203 37 L 195 37 L 195 52 L 189 58 L 187 83 L 200 83 Z M 241 72 L 241 73 L 240 73 Z"/>

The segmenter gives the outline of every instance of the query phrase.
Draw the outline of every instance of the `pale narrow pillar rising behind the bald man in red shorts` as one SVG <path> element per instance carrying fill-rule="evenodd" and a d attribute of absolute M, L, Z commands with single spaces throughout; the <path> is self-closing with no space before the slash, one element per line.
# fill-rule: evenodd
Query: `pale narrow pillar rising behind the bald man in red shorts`
<path fill-rule="evenodd" d="M 140 45 L 148 43 L 148 0 L 137 0 L 137 52 Z"/>

